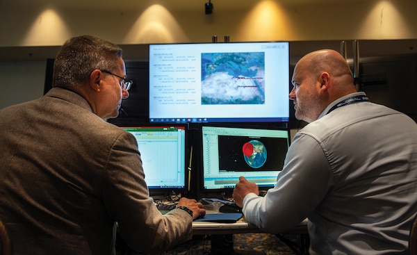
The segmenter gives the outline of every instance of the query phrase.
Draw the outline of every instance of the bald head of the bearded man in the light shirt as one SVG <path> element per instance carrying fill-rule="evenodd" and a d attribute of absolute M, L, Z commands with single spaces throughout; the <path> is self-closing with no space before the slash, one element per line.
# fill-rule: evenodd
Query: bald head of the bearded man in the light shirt
<path fill-rule="evenodd" d="M 313 51 L 295 65 L 294 88 L 289 94 L 298 120 L 313 122 L 336 99 L 357 92 L 352 71 L 332 49 Z"/>

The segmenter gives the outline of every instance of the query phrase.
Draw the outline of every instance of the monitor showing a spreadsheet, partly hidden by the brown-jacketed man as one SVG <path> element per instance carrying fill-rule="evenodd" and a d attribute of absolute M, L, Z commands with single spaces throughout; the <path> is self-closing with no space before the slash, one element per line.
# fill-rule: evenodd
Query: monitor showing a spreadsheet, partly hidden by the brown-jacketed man
<path fill-rule="evenodd" d="M 135 136 L 149 192 L 186 191 L 187 126 L 124 126 Z"/>

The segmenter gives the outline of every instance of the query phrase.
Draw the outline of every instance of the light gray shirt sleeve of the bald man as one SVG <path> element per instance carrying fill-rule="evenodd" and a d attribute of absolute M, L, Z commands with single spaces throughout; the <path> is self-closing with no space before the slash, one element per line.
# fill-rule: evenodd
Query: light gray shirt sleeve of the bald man
<path fill-rule="evenodd" d="M 297 133 L 288 149 L 274 188 L 264 197 L 243 199 L 248 222 L 270 233 L 281 233 L 308 217 L 334 184 L 331 165 L 321 142 Z"/>

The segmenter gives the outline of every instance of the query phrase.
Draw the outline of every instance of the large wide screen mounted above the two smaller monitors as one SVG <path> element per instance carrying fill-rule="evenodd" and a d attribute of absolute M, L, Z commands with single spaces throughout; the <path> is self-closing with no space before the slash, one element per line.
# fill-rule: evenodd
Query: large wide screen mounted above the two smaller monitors
<path fill-rule="evenodd" d="M 289 43 L 149 45 L 149 122 L 288 122 Z"/>

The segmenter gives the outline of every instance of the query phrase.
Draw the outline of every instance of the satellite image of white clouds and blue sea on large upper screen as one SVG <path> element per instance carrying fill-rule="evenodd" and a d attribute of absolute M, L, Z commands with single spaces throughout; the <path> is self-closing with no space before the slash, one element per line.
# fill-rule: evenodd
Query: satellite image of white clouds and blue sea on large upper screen
<path fill-rule="evenodd" d="M 202 54 L 202 104 L 265 104 L 264 69 L 263 52 Z"/>

